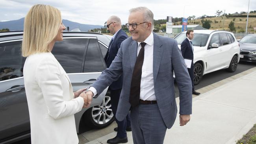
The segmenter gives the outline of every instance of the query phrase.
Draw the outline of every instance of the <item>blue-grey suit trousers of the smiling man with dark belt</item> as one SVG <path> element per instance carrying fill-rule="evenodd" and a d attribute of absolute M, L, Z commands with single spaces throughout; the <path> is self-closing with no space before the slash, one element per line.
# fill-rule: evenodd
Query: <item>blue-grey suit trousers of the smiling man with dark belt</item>
<path fill-rule="evenodd" d="M 163 144 L 167 127 L 157 104 L 139 104 L 131 110 L 134 144 Z"/>

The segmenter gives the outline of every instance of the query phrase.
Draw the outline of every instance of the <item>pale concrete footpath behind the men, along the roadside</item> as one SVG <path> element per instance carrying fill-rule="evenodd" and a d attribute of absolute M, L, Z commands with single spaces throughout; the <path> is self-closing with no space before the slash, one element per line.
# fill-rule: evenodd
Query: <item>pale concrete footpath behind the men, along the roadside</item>
<path fill-rule="evenodd" d="M 256 67 L 197 90 L 191 120 L 167 129 L 164 144 L 235 144 L 256 124 Z M 178 98 L 176 98 L 179 103 Z M 106 144 L 116 132 L 86 144 Z M 127 133 L 128 143 L 132 133 Z"/>

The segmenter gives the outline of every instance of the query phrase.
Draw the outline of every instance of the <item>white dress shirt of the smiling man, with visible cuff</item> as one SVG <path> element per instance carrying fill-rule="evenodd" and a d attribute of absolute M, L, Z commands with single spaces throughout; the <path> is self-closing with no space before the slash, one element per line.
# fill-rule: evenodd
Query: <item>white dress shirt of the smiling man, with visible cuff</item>
<path fill-rule="evenodd" d="M 153 33 L 147 37 L 144 41 L 146 43 L 144 49 L 144 60 L 142 65 L 141 74 L 141 90 L 140 99 L 141 100 L 156 100 L 154 91 L 154 78 L 153 78 L 153 49 L 154 49 L 154 36 Z M 141 50 L 141 42 L 138 42 L 137 56 L 139 50 Z M 93 96 L 97 94 L 94 87 L 90 87 L 88 90 L 93 92 Z"/>

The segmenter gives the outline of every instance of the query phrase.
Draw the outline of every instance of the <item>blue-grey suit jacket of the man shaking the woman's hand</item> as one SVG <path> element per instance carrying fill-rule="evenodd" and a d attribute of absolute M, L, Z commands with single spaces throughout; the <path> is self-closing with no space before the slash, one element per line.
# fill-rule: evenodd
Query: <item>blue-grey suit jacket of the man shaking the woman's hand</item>
<path fill-rule="evenodd" d="M 180 91 L 180 114 L 192 113 L 192 86 L 187 67 L 174 39 L 154 35 L 153 77 L 157 104 L 167 128 L 171 128 L 177 115 L 173 71 Z M 117 120 L 123 120 L 131 107 L 129 103 L 132 73 L 137 58 L 138 43 L 132 37 L 124 40 L 112 64 L 102 72 L 93 87 L 100 94 L 123 74 L 123 85 L 117 108 Z M 145 55 L 147 56 L 147 55 Z"/>

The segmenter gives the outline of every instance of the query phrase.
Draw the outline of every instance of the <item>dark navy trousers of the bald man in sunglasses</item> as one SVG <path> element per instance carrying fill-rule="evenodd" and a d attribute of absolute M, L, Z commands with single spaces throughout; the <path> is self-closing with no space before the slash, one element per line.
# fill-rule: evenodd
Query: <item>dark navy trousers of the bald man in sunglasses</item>
<path fill-rule="evenodd" d="M 110 90 L 111 107 L 114 115 L 117 113 L 117 106 L 118 106 L 121 90 L 122 89 Z M 128 113 L 126 118 L 122 121 L 118 121 L 115 118 L 115 122 L 117 122 L 117 127 L 118 127 L 117 137 L 120 137 L 120 138 L 126 137 L 127 136 L 126 127 L 131 126 L 130 114 Z"/>

